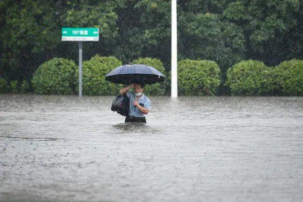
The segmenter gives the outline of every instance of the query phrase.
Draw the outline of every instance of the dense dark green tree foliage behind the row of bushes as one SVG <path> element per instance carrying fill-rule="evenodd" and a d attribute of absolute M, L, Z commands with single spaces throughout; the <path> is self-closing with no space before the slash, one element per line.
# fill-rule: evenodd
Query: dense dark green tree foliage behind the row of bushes
<path fill-rule="evenodd" d="M 179 0 L 179 60 L 215 61 L 225 80 L 241 60 L 267 66 L 303 59 L 303 1 Z M 98 27 L 83 57 L 114 56 L 123 64 L 157 58 L 170 69 L 171 1 L 0 1 L 0 77 L 30 81 L 52 58 L 77 61 L 78 44 L 61 41 L 62 27 Z"/>

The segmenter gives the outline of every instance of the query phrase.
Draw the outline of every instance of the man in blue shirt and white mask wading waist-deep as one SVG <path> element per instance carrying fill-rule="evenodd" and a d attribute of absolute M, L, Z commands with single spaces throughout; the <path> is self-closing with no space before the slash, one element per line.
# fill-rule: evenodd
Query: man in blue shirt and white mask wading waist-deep
<path fill-rule="evenodd" d="M 134 92 L 129 92 L 130 88 L 134 88 Z M 120 89 L 120 94 L 125 94 L 129 98 L 129 113 L 125 118 L 125 122 L 146 123 L 145 115 L 150 109 L 150 100 L 143 94 L 144 85 L 131 84 Z"/>

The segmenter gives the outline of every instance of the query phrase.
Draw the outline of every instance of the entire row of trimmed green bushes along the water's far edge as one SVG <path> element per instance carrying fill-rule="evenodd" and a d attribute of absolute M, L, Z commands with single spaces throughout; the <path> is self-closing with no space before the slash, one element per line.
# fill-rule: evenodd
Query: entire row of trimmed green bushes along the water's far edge
<path fill-rule="evenodd" d="M 162 83 L 146 85 L 147 95 L 164 95 L 170 92 L 171 73 L 158 59 L 139 58 L 131 64 L 152 66 L 166 76 Z M 98 55 L 83 62 L 82 87 L 87 95 L 116 95 L 121 84 L 105 81 L 105 75 L 121 66 L 115 57 Z M 178 90 L 180 95 L 214 95 L 220 84 L 220 69 L 213 61 L 182 60 L 178 62 Z M 34 73 L 32 87 L 38 94 L 78 93 L 78 66 L 71 60 L 54 58 L 43 63 Z M 282 62 L 267 67 L 259 61 L 247 60 L 235 64 L 227 71 L 226 85 L 232 95 L 303 95 L 303 61 Z M 26 93 L 30 84 L 23 81 L 8 82 L 0 78 L 0 93 Z"/>

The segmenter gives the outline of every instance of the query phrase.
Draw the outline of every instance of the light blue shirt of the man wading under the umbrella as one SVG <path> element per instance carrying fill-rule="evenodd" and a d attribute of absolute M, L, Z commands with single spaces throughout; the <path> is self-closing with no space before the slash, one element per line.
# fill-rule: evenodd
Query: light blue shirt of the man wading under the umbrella
<path fill-rule="evenodd" d="M 145 117 L 145 114 L 143 114 L 137 107 L 134 106 L 134 100 L 135 93 L 134 92 L 126 92 L 126 96 L 129 98 L 129 116 L 135 116 L 135 117 Z M 143 108 L 146 108 L 150 110 L 150 100 L 147 96 L 142 94 L 142 96 L 138 99 L 138 103 L 143 104 Z"/>

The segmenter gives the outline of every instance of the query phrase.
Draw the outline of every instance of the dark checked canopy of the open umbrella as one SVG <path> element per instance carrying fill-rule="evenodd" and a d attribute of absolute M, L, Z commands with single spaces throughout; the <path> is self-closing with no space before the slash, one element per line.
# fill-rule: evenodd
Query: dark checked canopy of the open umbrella
<path fill-rule="evenodd" d="M 154 84 L 165 80 L 165 76 L 147 65 L 123 65 L 113 69 L 105 76 L 106 81 L 121 84 Z"/>

